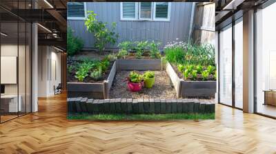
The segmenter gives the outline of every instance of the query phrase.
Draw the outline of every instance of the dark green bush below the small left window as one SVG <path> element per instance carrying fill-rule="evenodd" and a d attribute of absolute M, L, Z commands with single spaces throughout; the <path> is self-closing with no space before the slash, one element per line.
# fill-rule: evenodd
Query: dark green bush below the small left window
<path fill-rule="evenodd" d="M 83 47 L 83 41 L 73 35 L 72 29 L 68 27 L 67 29 L 67 54 L 68 56 L 74 56 Z"/>

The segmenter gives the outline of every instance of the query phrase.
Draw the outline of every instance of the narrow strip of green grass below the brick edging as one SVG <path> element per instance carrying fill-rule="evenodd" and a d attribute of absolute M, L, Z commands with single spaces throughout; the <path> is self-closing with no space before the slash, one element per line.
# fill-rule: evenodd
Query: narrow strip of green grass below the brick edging
<path fill-rule="evenodd" d="M 214 120 L 215 113 L 188 114 L 69 114 L 68 120 Z"/>

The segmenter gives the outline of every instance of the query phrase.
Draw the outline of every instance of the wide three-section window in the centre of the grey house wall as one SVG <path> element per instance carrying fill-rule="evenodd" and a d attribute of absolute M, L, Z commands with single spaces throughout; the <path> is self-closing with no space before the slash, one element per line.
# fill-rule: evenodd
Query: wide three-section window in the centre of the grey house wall
<path fill-rule="evenodd" d="M 121 2 L 121 20 L 170 21 L 170 2 Z"/>

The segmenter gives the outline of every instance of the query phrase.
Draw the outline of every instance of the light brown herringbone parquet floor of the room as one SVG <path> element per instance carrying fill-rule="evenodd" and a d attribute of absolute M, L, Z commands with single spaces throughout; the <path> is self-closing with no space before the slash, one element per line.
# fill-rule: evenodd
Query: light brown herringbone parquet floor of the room
<path fill-rule="evenodd" d="M 66 96 L 0 124 L 0 153 L 276 153 L 276 120 L 217 104 L 216 120 L 66 120 Z"/>

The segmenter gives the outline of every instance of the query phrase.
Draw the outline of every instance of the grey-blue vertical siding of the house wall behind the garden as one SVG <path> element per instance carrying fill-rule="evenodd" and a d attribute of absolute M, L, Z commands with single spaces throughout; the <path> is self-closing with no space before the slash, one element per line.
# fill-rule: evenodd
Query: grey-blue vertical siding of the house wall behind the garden
<path fill-rule="evenodd" d="M 190 30 L 190 17 L 193 3 L 172 2 L 170 21 L 121 21 L 119 2 L 92 2 L 86 3 L 87 10 L 97 14 L 99 21 L 117 23 L 116 32 L 119 33 L 117 44 L 121 41 L 160 41 L 161 48 L 167 42 L 187 41 Z M 84 41 L 85 48 L 94 47 L 93 35 L 86 31 L 83 20 L 68 19 L 68 25 L 75 31 L 75 35 Z M 107 48 L 117 48 L 116 45 L 108 45 Z"/>

